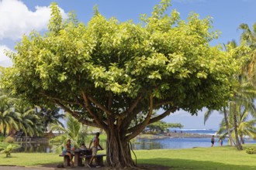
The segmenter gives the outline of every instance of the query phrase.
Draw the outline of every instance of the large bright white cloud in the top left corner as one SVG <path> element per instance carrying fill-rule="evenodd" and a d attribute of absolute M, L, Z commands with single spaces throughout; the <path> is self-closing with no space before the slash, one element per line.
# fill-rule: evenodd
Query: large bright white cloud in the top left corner
<path fill-rule="evenodd" d="M 0 0 L 0 40 L 17 40 L 33 29 L 39 32 L 47 29 L 50 19 L 49 6 L 35 8 L 33 12 L 19 0 Z M 64 18 L 67 18 L 63 9 L 61 13 Z"/>

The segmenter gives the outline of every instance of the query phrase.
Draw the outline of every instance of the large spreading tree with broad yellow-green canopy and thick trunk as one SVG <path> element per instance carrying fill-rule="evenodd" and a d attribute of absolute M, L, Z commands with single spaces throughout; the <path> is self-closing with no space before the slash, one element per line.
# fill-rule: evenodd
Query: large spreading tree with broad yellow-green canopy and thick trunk
<path fill-rule="evenodd" d="M 54 103 L 107 134 L 106 165 L 134 166 L 129 141 L 147 126 L 183 109 L 220 109 L 230 93 L 233 59 L 209 42 L 211 19 L 185 22 L 163 0 L 141 22 L 106 19 L 97 9 L 87 25 L 62 22 L 52 4 L 49 32 L 23 36 L 2 83 L 33 104 Z M 163 113 L 151 117 L 154 109 Z M 138 114 L 144 118 L 137 120 Z M 137 122 L 137 124 L 134 124 Z M 133 124 L 133 126 L 130 126 Z"/>

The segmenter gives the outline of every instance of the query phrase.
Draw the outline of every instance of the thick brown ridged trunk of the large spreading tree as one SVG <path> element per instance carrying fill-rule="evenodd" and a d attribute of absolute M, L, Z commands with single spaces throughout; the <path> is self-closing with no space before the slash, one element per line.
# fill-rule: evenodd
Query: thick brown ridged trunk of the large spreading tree
<path fill-rule="evenodd" d="M 106 166 L 115 169 L 132 168 L 135 163 L 131 157 L 129 142 L 115 128 L 109 128 L 107 133 Z"/>

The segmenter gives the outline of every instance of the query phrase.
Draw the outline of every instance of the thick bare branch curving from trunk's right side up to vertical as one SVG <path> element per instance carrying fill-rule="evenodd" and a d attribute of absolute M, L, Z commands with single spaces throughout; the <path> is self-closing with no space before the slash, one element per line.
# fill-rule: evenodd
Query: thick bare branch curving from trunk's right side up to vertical
<path fill-rule="evenodd" d="M 133 133 L 126 136 L 126 141 L 130 141 L 130 139 L 136 137 L 138 134 L 140 134 L 140 131 L 144 130 L 144 128 L 147 126 L 148 122 L 150 121 L 150 117 L 153 113 L 153 95 L 150 94 L 150 110 L 147 114 L 147 117 L 145 118 L 144 122 L 137 125 L 137 130 L 133 131 Z M 128 130 L 129 131 L 129 130 Z"/>

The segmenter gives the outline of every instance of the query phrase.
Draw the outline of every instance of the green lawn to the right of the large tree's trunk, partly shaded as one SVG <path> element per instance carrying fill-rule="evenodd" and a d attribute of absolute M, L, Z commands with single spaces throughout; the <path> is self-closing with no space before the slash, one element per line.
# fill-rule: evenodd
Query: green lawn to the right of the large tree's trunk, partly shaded
<path fill-rule="evenodd" d="M 190 148 L 177 150 L 137 151 L 139 164 L 152 163 L 165 165 L 171 169 L 223 169 L 240 170 L 256 169 L 256 155 L 248 155 L 245 151 L 237 151 L 234 147 Z"/>

